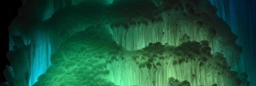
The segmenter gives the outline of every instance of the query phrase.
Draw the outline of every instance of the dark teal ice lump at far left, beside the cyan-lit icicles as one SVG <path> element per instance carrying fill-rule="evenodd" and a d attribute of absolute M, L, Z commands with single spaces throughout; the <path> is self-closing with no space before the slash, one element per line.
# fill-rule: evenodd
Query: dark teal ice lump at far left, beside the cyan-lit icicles
<path fill-rule="evenodd" d="M 12 64 L 6 65 L 3 74 L 10 86 L 28 86 L 28 76 L 31 74 L 30 46 L 26 46 L 20 36 L 13 36 L 13 40 L 15 46 L 6 55 Z"/>

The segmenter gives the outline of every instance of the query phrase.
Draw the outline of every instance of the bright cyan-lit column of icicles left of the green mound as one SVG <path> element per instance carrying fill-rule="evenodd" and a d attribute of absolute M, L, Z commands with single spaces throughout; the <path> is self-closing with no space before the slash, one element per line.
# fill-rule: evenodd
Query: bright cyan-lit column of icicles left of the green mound
<path fill-rule="evenodd" d="M 46 36 L 45 34 L 38 36 Z M 34 59 L 32 59 L 32 67 L 31 67 L 31 78 L 29 86 L 33 85 L 38 77 L 43 74 L 46 69 L 51 65 L 50 57 L 51 57 L 51 44 L 49 42 L 49 38 L 47 37 L 38 37 L 41 40 L 36 40 L 35 44 L 35 52 Z"/>

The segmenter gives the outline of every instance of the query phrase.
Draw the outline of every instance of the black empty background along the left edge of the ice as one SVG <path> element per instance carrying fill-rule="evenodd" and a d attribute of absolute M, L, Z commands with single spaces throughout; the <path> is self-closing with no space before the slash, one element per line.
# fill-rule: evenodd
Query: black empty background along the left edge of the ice
<path fill-rule="evenodd" d="M 18 15 L 18 9 L 21 5 L 21 0 L 0 1 L 0 83 L 6 82 L 3 76 L 3 70 L 5 69 L 5 65 L 10 65 L 6 58 L 6 53 L 9 50 L 8 27 Z"/>

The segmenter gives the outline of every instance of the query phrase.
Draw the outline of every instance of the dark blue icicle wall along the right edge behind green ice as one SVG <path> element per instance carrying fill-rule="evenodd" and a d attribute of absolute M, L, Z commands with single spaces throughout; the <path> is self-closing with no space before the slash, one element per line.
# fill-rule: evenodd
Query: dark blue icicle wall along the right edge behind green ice
<path fill-rule="evenodd" d="M 217 14 L 226 21 L 234 34 L 237 44 L 243 47 L 240 55 L 239 71 L 249 74 L 252 86 L 256 86 L 254 51 L 256 51 L 256 0 L 210 0 L 218 8 Z"/>

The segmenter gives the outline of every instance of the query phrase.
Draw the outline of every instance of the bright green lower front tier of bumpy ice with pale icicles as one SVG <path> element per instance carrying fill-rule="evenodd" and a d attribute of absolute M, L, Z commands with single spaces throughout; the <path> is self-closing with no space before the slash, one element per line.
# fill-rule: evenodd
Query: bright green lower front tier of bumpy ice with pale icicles
<path fill-rule="evenodd" d="M 247 83 L 230 70 L 222 54 L 210 54 L 206 40 L 180 46 L 149 43 L 129 52 L 111 39 L 104 25 L 74 34 L 54 52 L 52 65 L 34 86 L 168 86 L 170 77 L 193 86 Z"/>

